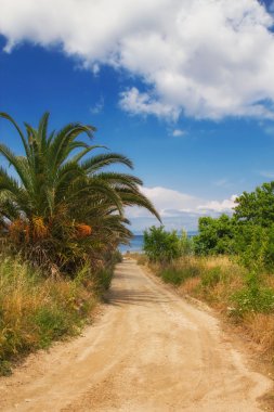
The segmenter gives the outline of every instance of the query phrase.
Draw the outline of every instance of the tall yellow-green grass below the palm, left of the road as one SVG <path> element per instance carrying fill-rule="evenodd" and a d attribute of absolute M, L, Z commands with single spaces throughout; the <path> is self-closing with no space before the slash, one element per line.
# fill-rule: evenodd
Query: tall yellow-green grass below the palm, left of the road
<path fill-rule="evenodd" d="M 9 374 L 19 356 L 81 330 L 113 266 L 95 274 L 83 268 L 68 280 L 44 278 L 18 258 L 0 259 L 0 374 Z"/>

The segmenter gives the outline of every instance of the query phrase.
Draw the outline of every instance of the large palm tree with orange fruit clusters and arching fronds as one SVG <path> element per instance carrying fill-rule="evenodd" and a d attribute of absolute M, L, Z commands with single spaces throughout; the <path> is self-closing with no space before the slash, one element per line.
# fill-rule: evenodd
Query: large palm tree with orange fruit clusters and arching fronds
<path fill-rule="evenodd" d="M 15 155 L 5 144 L 0 154 L 13 167 L 16 178 L 0 168 L 0 227 L 16 252 L 47 267 L 57 265 L 71 272 L 87 258 L 127 242 L 126 206 L 147 208 L 158 219 L 152 203 L 141 193 L 142 181 L 128 173 L 104 168 L 132 162 L 117 153 L 91 156 L 96 149 L 79 136 L 92 139 L 95 128 L 79 123 L 60 131 L 48 131 L 49 113 L 37 129 L 25 124 L 25 133 L 6 113 L 17 130 L 25 155 Z"/>

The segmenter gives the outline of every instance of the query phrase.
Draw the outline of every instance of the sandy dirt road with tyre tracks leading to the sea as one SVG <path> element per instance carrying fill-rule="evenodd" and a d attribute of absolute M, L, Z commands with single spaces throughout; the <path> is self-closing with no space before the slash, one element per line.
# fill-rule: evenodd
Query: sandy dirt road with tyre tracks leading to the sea
<path fill-rule="evenodd" d="M 94 325 L 0 379 L 0 410 L 256 412 L 270 386 L 213 317 L 125 260 Z"/>

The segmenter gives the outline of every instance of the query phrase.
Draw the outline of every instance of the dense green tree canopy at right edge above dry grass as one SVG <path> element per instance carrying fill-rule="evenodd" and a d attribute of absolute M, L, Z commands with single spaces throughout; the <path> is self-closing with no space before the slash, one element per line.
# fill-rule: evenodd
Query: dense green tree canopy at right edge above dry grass
<path fill-rule="evenodd" d="M 200 255 L 233 254 L 247 267 L 274 267 L 274 182 L 238 196 L 232 217 L 201 217 L 194 245 Z"/>

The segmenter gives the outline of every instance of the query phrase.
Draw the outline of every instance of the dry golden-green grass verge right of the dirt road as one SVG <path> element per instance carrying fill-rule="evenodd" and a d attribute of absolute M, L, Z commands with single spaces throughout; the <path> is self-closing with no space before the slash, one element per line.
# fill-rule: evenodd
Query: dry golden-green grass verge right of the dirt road
<path fill-rule="evenodd" d="M 274 278 L 256 275 L 229 257 L 184 257 L 162 266 L 148 263 L 142 255 L 140 265 L 183 295 L 206 301 L 226 320 L 240 327 L 260 353 L 274 362 Z"/>

